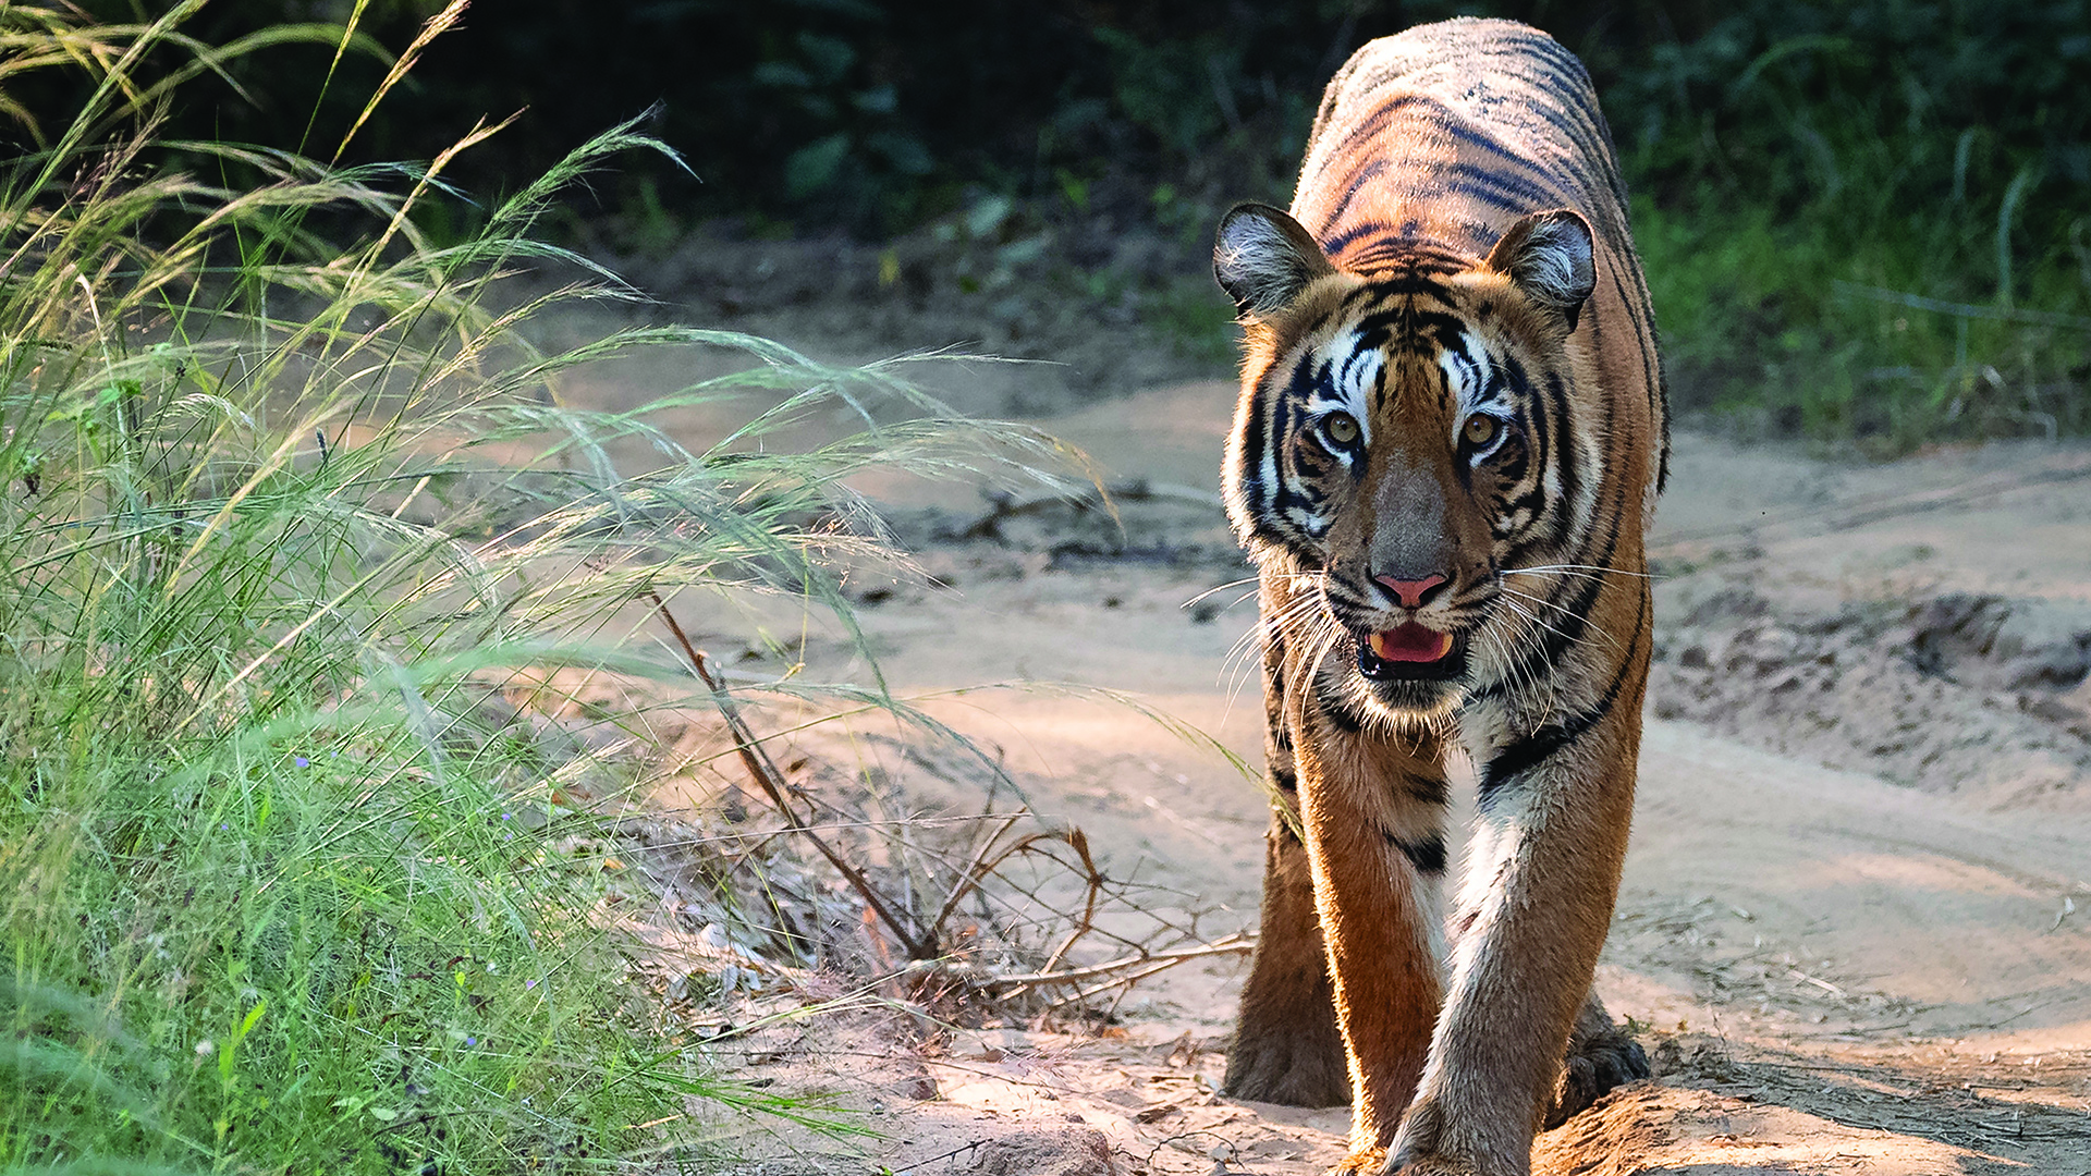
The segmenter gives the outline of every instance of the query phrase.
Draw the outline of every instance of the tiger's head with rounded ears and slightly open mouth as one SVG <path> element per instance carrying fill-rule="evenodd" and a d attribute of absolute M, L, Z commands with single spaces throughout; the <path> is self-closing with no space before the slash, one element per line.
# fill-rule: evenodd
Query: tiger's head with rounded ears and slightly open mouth
<path fill-rule="evenodd" d="M 1311 626 L 1395 716 L 1434 716 L 1516 672 L 1547 619 L 1518 571 L 1564 563 L 1589 525 L 1600 439 L 1577 427 L 1593 377 L 1572 337 L 1593 241 L 1558 209 L 1478 262 L 1374 257 L 1340 270 L 1269 205 L 1221 222 L 1213 272 L 1244 324 L 1227 517 L 1319 594 L 1280 624 Z"/>

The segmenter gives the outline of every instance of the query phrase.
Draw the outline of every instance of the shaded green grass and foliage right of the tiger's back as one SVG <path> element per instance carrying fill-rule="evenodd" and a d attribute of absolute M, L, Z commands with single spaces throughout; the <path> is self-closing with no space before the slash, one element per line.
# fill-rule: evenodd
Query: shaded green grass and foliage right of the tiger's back
<path fill-rule="evenodd" d="M 1869 452 L 2091 429 L 2081 0 L 1750 0 L 1608 63 L 1685 408 Z"/>

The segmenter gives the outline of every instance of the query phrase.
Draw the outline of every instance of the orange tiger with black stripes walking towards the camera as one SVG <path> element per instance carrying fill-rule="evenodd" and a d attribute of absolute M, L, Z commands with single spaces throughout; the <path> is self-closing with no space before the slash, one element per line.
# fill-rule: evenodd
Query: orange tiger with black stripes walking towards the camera
<path fill-rule="evenodd" d="M 1589 73 L 1514 21 L 1365 44 L 1290 211 L 1227 211 L 1213 274 L 1242 324 L 1221 481 L 1273 799 L 1223 1088 L 1349 1101 L 1338 1172 L 1526 1174 L 1539 1130 L 1648 1076 L 1591 981 L 1669 393 Z"/>

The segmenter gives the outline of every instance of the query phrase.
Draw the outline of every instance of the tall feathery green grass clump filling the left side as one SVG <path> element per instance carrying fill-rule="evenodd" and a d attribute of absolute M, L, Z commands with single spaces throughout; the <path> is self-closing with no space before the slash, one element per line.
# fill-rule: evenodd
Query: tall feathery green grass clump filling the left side
<path fill-rule="evenodd" d="M 0 10 L 8 71 L 92 84 L 0 165 L 0 1172 L 673 1161 L 690 1099 L 740 1096 L 631 1032 L 596 824 L 554 791 L 577 766 L 475 682 L 684 680 L 613 626 L 654 588 L 851 630 L 841 569 L 887 552 L 847 477 L 1029 442 L 742 335 L 539 352 L 542 316 L 634 297 L 542 218 L 659 142 L 602 134 L 439 245 L 418 218 L 489 128 L 383 167 L 163 140 L 180 82 L 228 54 L 358 46 L 211 48 L 190 8 Z M 506 293 L 527 266 L 583 278 Z M 744 362 L 634 412 L 556 395 L 661 345 Z M 746 425 L 709 448 L 648 425 L 719 402 Z M 784 442 L 836 412 L 861 431 Z"/>

